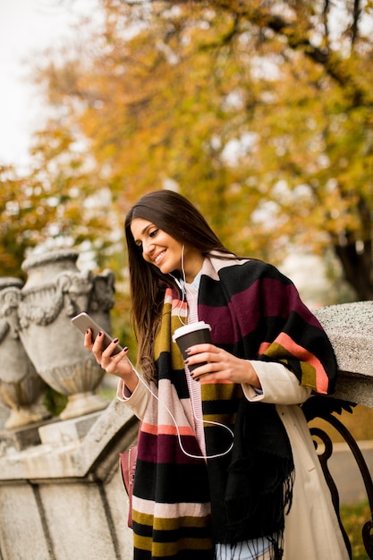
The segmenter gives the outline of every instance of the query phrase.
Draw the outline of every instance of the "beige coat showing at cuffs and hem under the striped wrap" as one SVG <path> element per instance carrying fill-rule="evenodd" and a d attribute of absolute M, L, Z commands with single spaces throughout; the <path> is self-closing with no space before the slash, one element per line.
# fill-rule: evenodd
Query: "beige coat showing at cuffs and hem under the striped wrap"
<path fill-rule="evenodd" d="M 310 390 L 301 387 L 281 364 L 251 363 L 257 371 L 262 395 L 251 386 L 243 386 L 244 394 L 250 401 L 276 404 L 292 445 L 295 482 L 292 509 L 285 518 L 284 560 L 349 560 L 330 491 L 299 406 L 309 398 Z M 140 419 L 148 395 L 143 383 L 139 383 L 132 395 L 126 394 L 122 381 L 118 385 L 118 398 Z"/>

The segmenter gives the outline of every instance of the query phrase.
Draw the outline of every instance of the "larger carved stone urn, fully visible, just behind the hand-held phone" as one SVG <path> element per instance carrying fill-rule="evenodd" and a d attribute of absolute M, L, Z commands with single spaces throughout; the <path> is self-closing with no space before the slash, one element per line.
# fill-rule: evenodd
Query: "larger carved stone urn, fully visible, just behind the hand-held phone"
<path fill-rule="evenodd" d="M 94 275 L 77 267 L 75 250 L 36 254 L 22 263 L 27 275 L 21 289 L 18 316 L 21 341 L 47 385 L 67 396 L 62 420 L 105 408 L 97 395 L 105 371 L 83 346 L 83 335 L 71 318 L 87 311 L 110 333 L 114 275 Z"/>

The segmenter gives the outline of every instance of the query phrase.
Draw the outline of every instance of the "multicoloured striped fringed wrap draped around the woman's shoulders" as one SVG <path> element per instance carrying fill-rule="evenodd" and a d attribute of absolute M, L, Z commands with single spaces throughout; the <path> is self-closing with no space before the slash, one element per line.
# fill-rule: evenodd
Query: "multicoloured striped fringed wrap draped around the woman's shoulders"
<path fill-rule="evenodd" d="M 301 385 L 333 392 L 335 354 L 318 320 L 292 282 L 256 260 L 205 259 L 199 320 L 213 344 L 246 360 L 282 362 Z M 242 386 L 201 380 L 208 456 L 202 457 L 181 353 L 172 342 L 186 318 L 185 303 L 165 291 L 155 346 L 158 384 L 152 384 L 140 425 L 133 489 L 135 560 L 208 560 L 215 543 L 279 535 L 291 505 L 292 451 L 275 406 L 249 403 Z M 186 322 L 186 321 L 185 321 Z M 176 428 L 177 426 L 177 428 Z M 237 466 L 238 465 L 238 466 Z M 277 497 L 275 497 L 277 496 Z M 276 505 L 274 505 L 277 500 Z"/>

